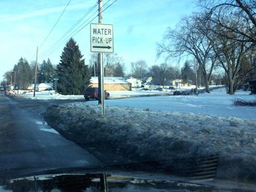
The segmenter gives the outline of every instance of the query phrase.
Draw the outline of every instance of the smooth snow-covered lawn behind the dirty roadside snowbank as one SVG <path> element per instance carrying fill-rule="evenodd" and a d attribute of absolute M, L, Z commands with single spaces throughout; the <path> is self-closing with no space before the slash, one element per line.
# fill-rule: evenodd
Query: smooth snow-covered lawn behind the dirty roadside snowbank
<path fill-rule="evenodd" d="M 225 88 L 219 88 L 211 93 L 198 96 L 150 96 L 129 99 L 110 99 L 106 106 L 135 107 L 140 109 L 161 110 L 168 112 L 192 112 L 195 114 L 215 117 L 234 117 L 256 120 L 256 107 L 235 106 L 235 99 L 255 101 L 256 96 L 249 91 L 238 91 L 235 95 L 227 95 Z M 97 104 L 97 101 L 89 101 Z"/>

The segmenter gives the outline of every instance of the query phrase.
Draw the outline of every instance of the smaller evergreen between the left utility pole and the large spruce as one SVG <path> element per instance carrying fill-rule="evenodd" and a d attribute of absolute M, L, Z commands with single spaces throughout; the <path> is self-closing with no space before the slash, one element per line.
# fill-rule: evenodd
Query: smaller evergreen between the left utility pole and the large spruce
<path fill-rule="evenodd" d="M 51 64 L 50 59 L 48 61 L 42 61 L 38 72 L 38 82 L 53 82 L 54 77 L 56 77 L 56 69 L 53 64 Z"/>

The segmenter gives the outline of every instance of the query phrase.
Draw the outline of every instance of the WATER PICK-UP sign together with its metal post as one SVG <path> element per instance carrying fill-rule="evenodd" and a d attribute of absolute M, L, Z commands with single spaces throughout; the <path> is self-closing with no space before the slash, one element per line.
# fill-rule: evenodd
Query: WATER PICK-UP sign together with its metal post
<path fill-rule="evenodd" d="M 113 25 L 91 23 L 91 52 L 99 53 L 102 115 L 105 115 L 104 67 L 102 53 L 113 53 Z"/>

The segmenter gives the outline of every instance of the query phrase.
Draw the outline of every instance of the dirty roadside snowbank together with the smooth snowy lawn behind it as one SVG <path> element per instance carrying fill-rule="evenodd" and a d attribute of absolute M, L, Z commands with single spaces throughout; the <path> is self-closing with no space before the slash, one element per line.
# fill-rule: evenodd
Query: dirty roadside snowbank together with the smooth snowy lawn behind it
<path fill-rule="evenodd" d="M 121 163 L 115 156 L 121 155 L 125 161 L 172 161 L 217 153 L 218 178 L 255 183 L 256 108 L 234 106 L 233 99 L 255 96 L 229 96 L 221 88 L 199 96 L 110 99 L 105 116 L 97 101 L 61 104 L 49 107 L 45 120 L 94 151 L 105 154 L 112 147 L 112 158 L 97 154 L 104 160 Z"/>

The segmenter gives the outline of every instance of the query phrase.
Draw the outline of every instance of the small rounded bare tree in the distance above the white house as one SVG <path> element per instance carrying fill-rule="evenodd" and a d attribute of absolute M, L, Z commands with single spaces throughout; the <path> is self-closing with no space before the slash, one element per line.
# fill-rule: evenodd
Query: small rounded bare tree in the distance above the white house
<path fill-rule="evenodd" d="M 141 79 L 146 77 L 148 65 L 146 61 L 140 60 L 131 63 L 132 77 Z"/>

